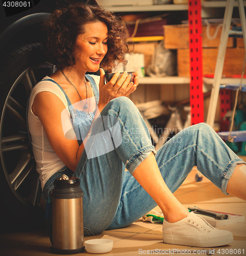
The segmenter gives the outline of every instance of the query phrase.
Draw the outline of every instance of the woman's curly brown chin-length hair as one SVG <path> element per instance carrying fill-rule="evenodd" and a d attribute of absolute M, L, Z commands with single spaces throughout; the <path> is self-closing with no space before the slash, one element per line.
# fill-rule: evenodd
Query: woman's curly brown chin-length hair
<path fill-rule="evenodd" d="M 116 62 L 125 62 L 124 54 L 133 49 L 133 42 L 122 18 L 102 7 L 78 3 L 55 10 L 42 25 L 43 50 L 57 69 L 75 65 L 76 38 L 84 33 L 84 25 L 93 22 L 103 22 L 108 29 L 108 50 L 101 68 L 111 70 Z"/>

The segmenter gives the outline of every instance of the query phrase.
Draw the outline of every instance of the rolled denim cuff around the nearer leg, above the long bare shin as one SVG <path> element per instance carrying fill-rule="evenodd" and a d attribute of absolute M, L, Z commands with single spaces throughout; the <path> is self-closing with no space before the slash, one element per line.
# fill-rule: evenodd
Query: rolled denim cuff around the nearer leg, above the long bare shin
<path fill-rule="evenodd" d="M 144 161 L 144 159 L 146 159 L 150 155 L 151 152 L 156 155 L 156 151 L 154 150 L 153 145 L 144 146 L 140 148 L 140 150 L 138 150 L 138 152 L 135 153 L 129 160 L 126 161 L 126 169 L 130 172 L 131 175 Z"/>

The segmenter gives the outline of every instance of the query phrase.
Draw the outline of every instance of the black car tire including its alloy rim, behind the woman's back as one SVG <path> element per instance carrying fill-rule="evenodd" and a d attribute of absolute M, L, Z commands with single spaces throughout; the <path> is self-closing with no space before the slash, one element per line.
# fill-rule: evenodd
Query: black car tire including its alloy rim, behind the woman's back
<path fill-rule="evenodd" d="M 1 208 L 18 219 L 33 215 L 40 200 L 38 173 L 27 135 L 27 101 L 36 82 L 54 69 L 38 43 L 7 53 L 0 63 Z"/>

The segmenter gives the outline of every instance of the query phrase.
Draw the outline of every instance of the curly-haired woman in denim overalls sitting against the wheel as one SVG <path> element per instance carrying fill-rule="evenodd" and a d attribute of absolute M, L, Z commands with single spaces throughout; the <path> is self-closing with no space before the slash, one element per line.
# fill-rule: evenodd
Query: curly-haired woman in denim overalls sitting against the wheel
<path fill-rule="evenodd" d="M 49 202 L 55 178 L 75 176 L 84 192 L 85 236 L 129 225 L 158 204 L 165 243 L 231 243 L 231 232 L 189 213 L 172 193 L 197 166 L 223 193 L 245 200 L 245 163 L 206 124 L 178 133 L 156 153 L 136 106 L 122 97 L 136 90 L 138 74 L 130 82 L 126 74 L 117 81 L 116 73 L 106 84 L 103 69 L 100 78 L 86 75 L 124 61 L 129 42 L 121 21 L 76 4 L 54 11 L 44 30 L 57 71 L 34 87 L 28 113 L 43 197 Z"/>

